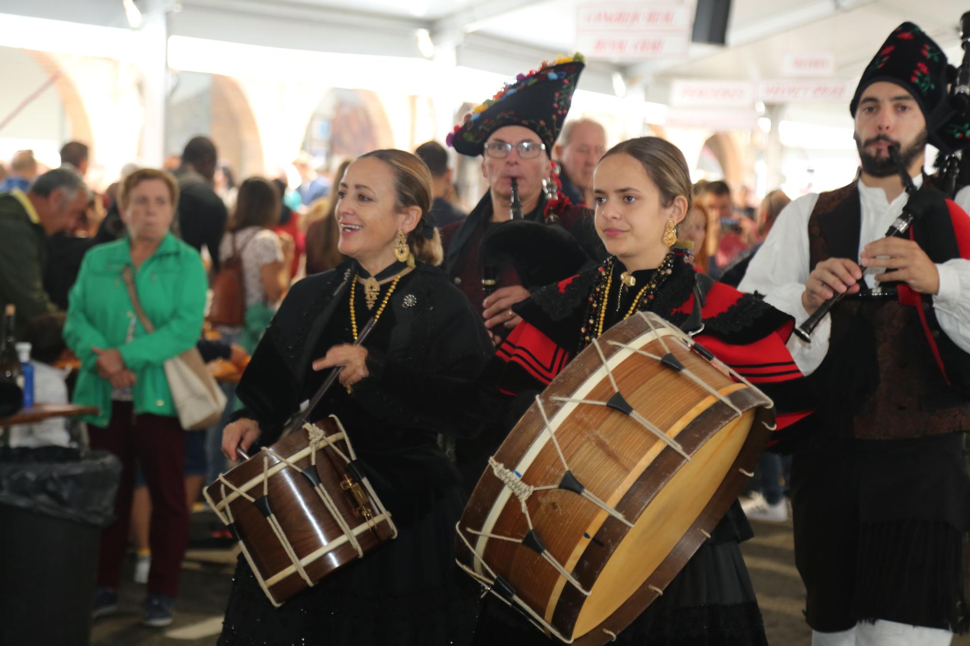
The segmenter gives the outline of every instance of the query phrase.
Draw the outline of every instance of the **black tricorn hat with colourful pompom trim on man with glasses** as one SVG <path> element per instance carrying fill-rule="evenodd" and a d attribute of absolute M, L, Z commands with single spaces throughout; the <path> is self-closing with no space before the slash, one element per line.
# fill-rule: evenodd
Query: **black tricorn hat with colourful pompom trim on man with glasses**
<path fill-rule="evenodd" d="M 496 130 L 520 125 L 538 135 L 551 153 L 584 67 L 585 59 L 577 52 L 572 57 L 545 61 L 538 70 L 518 75 L 466 114 L 446 143 L 463 155 L 474 157 L 484 152 L 485 142 Z"/>

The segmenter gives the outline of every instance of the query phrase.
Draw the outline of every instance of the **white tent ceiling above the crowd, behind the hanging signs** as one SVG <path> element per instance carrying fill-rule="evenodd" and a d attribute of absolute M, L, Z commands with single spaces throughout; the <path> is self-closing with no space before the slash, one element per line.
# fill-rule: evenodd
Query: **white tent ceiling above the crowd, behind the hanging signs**
<path fill-rule="evenodd" d="M 143 12 L 169 11 L 172 36 L 273 48 L 421 58 L 416 33 L 427 29 L 437 51 L 453 53 L 454 64 L 511 76 L 543 58 L 573 50 L 576 9 L 584 1 L 588 2 L 135 0 L 135 4 Z M 966 10 L 966 0 L 733 0 L 726 47 L 692 44 L 681 60 L 594 61 L 580 88 L 612 93 L 612 75 L 620 72 L 628 85 L 644 88 L 648 101 L 666 103 L 674 79 L 778 79 L 783 54 L 812 51 L 831 52 L 835 76 L 855 79 L 889 31 L 907 19 L 920 24 L 956 60 L 961 55 L 957 23 Z M 0 0 L 0 14 L 127 27 L 121 0 Z M 834 113 L 836 106 L 812 110 Z M 845 108 L 837 110 L 844 113 Z"/>

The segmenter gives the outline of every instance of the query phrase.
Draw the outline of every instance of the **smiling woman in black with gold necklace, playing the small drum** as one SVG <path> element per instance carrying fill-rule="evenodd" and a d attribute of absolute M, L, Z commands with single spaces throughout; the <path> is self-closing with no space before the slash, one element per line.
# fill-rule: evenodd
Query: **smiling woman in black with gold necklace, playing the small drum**
<path fill-rule="evenodd" d="M 474 389 L 492 343 L 468 299 L 425 264 L 440 262 L 431 204 L 431 175 L 412 154 L 375 150 L 348 167 L 337 218 L 352 260 L 293 285 L 242 377 L 246 407 L 222 443 L 230 458 L 257 438 L 273 443 L 342 366 L 308 420 L 339 417 L 398 537 L 279 608 L 241 561 L 219 644 L 469 640 L 477 598 L 453 556 L 464 496 L 436 437 L 477 428 L 474 410 L 448 404 L 449 394 Z M 354 345 L 370 319 L 370 337 Z"/>

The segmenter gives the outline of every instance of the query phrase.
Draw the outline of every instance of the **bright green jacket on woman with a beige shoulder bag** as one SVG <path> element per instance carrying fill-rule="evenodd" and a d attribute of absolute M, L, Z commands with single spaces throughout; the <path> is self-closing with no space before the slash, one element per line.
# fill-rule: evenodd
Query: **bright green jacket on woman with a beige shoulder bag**
<path fill-rule="evenodd" d="M 131 265 L 129 240 L 107 242 L 84 255 L 71 289 L 64 339 L 81 359 L 75 404 L 98 406 L 85 421 L 107 427 L 112 415 L 112 385 L 98 375 L 91 347 L 118 348 L 137 377 L 135 413 L 178 416 L 162 368 L 199 340 L 208 281 L 199 252 L 168 234 L 142 267 L 132 271 L 139 301 L 155 332 L 147 334 L 128 298 L 122 270 Z M 134 339 L 126 342 L 132 319 Z"/>

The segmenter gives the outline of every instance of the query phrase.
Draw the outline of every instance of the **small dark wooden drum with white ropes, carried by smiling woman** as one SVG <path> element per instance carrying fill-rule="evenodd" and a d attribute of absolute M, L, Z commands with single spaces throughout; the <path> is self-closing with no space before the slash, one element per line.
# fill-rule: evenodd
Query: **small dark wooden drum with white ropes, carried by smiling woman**
<path fill-rule="evenodd" d="M 355 459 L 331 415 L 206 488 L 206 500 L 239 540 L 275 606 L 397 537 L 391 514 Z"/>

